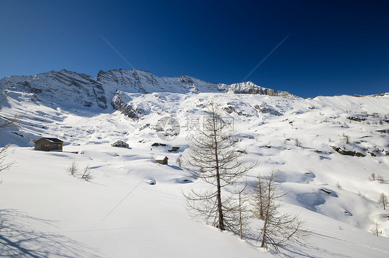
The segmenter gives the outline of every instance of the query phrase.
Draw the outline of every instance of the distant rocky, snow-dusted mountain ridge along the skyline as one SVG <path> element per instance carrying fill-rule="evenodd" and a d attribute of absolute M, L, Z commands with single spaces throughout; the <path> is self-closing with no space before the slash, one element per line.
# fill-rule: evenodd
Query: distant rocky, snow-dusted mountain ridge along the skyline
<path fill-rule="evenodd" d="M 233 92 L 239 94 L 296 97 L 289 92 L 257 86 L 251 81 L 224 84 L 208 83 L 194 77 L 157 77 L 143 70 L 109 70 L 98 72 L 97 77 L 69 70 L 49 71 L 38 75 L 4 77 L 0 80 L 1 90 L 33 93 L 33 100 L 51 103 L 68 103 L 67 106 L 96 107 L 103 110 L 121 92 L 148 94 L 153 92 L 200 93 Z"/>

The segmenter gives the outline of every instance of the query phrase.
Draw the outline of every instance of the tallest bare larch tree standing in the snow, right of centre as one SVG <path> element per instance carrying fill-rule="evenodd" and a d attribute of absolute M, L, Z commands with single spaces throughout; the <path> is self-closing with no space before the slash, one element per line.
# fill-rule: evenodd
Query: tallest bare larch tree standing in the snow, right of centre
<path fill-rule="evenodd" d="M 244 153 L 235 150 L 234 130 L 226 120 L 219 105 L 211 101 L 204 114 L 202 130 L 197 130 L 188 140 L 190 148 L 184 155 L 192 175 L 212 186 L 208 190 L 191 189 L 184 193 L 190 213 L 220 230 L 231 230 L 236 219 L 227 215 L 233 205 L 230 194 L 222 189 L 235 185 L 255 166 L 243 159 Z"/>

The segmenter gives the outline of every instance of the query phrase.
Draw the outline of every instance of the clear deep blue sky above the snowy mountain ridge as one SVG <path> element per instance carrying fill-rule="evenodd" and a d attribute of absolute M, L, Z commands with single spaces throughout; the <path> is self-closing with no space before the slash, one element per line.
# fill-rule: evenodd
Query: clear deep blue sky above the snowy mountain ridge
<path fill-rule="evenodd" d="M 134 66 L 236 83 L 289 35 L 246 81 L 301 97 L 389 92 L 388 1 L 0 0 L 0 33 L 1 78 Z"/>

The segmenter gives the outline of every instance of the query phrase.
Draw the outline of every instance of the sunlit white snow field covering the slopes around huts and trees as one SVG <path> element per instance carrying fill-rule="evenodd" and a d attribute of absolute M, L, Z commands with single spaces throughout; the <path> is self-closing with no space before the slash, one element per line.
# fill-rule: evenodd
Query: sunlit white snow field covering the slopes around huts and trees
<path fill-rule="evenodd" d="M 389 180 L 388 94 L 127 95 L 147 111 L 137 121 L 114 110 L 51 106 L 30 101 L 26 93 L 9 93 L 1 114 L 19 114 L 20 122 L 0 132 L 1 147 L 14 143 L 6 161 L 15 161 L 0 174 L 0 257 L 389 256 L 389 211 L 377 204 L 381 192 L 389 195 L 389 184 L 368 179 L 374 172 Z M 278 181 L 290 191 L 284 209 L 307 220 L 309 244 L 289 244 L 278 254 L 190 218 L 182 191 L 208 186 L 179 168 L 176 159 L 188 148 L 188 117 L 201 116 L 210 99 L 234 119 L 237 149 L 260 162 L 248 180 L 278 171 Z M 181 133 L 163 141 L 154 125 L 170 116 Z M 34 151 L 40 137 L 62 139 L 64 152 Z M 129 148 L 111 147 L 117 140 Z M 152 147 L 154 142 L 168 146 Z M 168 152 L 172 146 L 179 151 Z M 341 155 L 331 146 L 365 157 Z M 169 158 L 168 166 L 155 163 L 159 155 Z M 80 170 L 89 166 L 93 179 L 69 175 L 73 161 Z M 370 232 L 375 221 L 382 237 Z"/>

